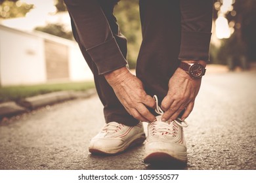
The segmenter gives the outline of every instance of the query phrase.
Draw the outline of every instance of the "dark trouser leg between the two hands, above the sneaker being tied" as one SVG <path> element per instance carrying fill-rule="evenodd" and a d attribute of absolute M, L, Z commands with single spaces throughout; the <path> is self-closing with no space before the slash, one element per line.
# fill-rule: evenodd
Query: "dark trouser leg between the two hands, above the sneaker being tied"
<path fill-rule="evenodd" d="M 179 67 L 181 12 L 179 1 L 140 0 L 142 45 L 137 76 L 146 93 L 157 95 L 159 104 L 167 95 L 169 79 Z"/>

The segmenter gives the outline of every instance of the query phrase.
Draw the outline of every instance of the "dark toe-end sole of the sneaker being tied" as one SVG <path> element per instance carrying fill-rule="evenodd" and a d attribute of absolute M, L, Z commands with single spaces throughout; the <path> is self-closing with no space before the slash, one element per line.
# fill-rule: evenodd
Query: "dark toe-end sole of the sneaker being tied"
<path fill-rule="evenodd" d="M 179 157 L 175 157 L 167 152 L 152 152 L 144 158 L 144 163 L 152 165 L 186 164 L 187 161 L 186 153 L 179 153 Z"/>

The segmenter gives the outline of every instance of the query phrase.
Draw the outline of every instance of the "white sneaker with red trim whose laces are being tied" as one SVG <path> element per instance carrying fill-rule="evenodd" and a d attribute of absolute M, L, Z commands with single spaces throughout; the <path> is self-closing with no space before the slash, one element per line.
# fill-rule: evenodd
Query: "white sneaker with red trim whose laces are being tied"
<path fill-rule="evenodd" d="M 154 97 L 157 101 L 156 96 Z M 158 105 L 156 112 L 163 114 Z M 186 163 L 188 158 L 182 127 L 187 127 L 188 124 L 179 118 L 172 122 L 162 122 L 161 115 L 156 116 L 156 119 L 156 122 L 148 124 L 144 163 Z"/>

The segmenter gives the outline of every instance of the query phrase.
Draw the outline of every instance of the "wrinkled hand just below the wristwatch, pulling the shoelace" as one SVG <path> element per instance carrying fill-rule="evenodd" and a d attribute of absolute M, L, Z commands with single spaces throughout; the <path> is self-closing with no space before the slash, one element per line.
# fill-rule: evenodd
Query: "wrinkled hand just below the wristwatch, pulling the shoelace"
<path fill-rule="evenodd" d="M 182 110 L 184 110 L 184 114 L 181 120 L 185 120 L 194 108 L 201 80 L 202 78 L 190 78 L 185 71 L 178 68 L 169 80 L 168 93 L 161 103 L 161 108 L 165 111 L 161 120 L 175 120 Z"/>

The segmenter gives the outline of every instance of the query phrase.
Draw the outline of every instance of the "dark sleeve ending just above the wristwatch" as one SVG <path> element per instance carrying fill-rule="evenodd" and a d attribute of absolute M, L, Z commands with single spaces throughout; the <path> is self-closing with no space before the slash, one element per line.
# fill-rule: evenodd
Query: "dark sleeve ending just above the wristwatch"
<path fill-rule="evenodd" d="M 213 0 L 181 0 L 181 60 L 209 61 Z"/>

